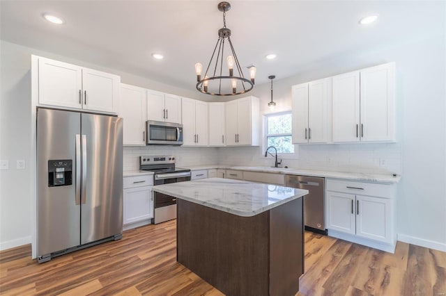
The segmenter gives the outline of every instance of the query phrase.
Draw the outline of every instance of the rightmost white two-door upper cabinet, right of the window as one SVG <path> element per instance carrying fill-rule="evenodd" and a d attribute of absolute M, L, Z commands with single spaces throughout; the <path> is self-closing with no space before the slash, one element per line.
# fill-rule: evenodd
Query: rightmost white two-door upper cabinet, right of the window
<path fill-rule="evenodd" d="M 333 142 L 392 142 L 395 64 L 333 77 Z"/>

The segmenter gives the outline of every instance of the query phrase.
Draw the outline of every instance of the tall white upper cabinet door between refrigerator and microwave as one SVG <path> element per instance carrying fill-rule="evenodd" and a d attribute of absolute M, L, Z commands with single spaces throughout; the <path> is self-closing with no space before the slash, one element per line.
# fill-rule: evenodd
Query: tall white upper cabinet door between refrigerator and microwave
<path fill-rule="evenodd" d="M 146 145 L 146 90 L 121 83 L 118 115 L 123 117 L 123 145 Z"/>

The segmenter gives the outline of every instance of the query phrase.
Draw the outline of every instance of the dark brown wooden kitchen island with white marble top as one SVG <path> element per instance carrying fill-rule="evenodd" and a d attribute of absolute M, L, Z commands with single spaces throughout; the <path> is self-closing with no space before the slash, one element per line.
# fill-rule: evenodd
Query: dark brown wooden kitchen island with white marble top
<path fill-rule="evenodd" d="M 177 261 L 226 295 L 295 295 L 307 190 L 231 179 L 154 186 L 177 198 Z"/>

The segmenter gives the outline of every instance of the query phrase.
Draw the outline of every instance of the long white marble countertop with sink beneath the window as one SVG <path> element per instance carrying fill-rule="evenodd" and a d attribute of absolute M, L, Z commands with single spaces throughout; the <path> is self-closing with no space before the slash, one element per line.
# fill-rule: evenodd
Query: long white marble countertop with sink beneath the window
<path fill-rule="evenodd" d="M 250 172 L 266 172 L 272 174 L 294 174 L 302 176 L 321 176 L 333 179 L 346 179 L 353 181 L 367 181 L 378 183 L 398 183 L 401 176 L 394 176 L 393 174 L 372 174 L 360 172 L 332 172 L 325 170 L 305 170 L 285 167 L 247 167 L 247 166 L 228 166 L 228 165 L 201 165 L 197 167 L 187 167 L 190 170 L 211 170 L 211 169 L 226 169 L 226 170 L 240 170 Z"/>

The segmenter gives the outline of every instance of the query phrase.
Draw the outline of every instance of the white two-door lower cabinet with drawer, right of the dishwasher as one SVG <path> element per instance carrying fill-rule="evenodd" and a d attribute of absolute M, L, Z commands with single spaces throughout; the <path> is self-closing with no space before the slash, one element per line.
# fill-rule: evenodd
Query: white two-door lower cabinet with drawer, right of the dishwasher
<path fill-rule="evenodd" d="M 328 179 L 326 190 L 329 236 L 394 252 L 394 184 Z"/>

